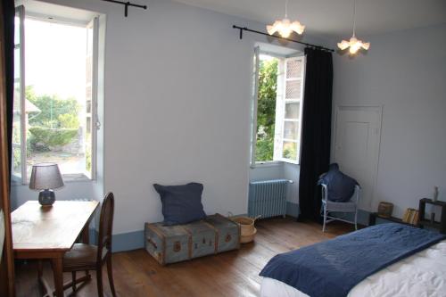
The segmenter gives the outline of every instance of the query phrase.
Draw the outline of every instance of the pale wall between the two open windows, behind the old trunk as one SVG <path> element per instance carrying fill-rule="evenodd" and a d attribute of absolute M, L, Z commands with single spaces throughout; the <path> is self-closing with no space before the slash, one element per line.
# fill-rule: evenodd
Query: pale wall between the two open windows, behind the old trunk
<path fill-rule="evenodd" d="M 253 45 L 268 40 L 239 40 L 232 25 L 264 25 L 161 0 L 128 18 L 119 4 L 45 1 L 106 14 L 101 181 L 116 197 L 114 233 L 162 219 L 153 183 L 201 182 L 208 213 L 246 213 Z"/>

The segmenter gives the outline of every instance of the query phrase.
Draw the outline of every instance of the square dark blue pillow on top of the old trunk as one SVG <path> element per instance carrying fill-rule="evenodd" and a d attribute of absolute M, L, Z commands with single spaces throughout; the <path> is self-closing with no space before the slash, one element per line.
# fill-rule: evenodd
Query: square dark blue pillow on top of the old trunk
<path fill-rule="evenodd" d="M 173 226 L 204 219 L 202 210 L 202 184 L 189 183 L 182 186 L 153 184 L 161 196 L 164 225 Z"/>

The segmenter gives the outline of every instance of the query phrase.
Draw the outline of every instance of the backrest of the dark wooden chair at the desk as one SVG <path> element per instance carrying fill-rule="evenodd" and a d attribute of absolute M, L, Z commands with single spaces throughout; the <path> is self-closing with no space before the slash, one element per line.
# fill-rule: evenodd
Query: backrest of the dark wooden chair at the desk
<path fill-rule="evenodd" d="M 101 217 L 99 219 L 99 238 L 97 243 L 97 261 L 111 252 L 111 229 L 113 228 L 114 195 L 109 192 L 103 198 Z"/>

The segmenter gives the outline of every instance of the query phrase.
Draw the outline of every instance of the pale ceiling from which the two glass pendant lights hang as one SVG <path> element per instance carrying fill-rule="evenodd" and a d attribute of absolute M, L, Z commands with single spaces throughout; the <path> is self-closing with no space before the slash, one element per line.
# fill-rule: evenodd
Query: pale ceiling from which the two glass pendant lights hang
<path fill-rule="evenodd" d="M 285 0 L 175 0 L 247 20 L 272 23 L 285 14 Z M 446 0 L 357 0 L 357 35 L 446 23 Z M 351 35 L 351 0 L 289 0 L 288 17 L 310 34 Z M 243 24 L 239 24 L 243 25 Z"/>

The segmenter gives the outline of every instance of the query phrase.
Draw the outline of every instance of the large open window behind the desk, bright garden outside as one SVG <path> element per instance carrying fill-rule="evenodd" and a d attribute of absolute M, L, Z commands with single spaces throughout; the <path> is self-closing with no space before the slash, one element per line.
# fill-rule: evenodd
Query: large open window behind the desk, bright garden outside
<path fill-rule="evenodd" d="M 12 181 L 28 184 L 42 162 L 65 179 L 94 178 L 97 18 L 58 21 L 20 6 L 15 32 Z"/>

